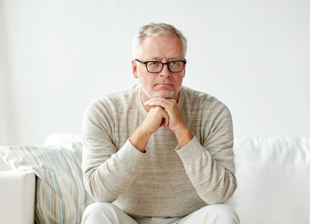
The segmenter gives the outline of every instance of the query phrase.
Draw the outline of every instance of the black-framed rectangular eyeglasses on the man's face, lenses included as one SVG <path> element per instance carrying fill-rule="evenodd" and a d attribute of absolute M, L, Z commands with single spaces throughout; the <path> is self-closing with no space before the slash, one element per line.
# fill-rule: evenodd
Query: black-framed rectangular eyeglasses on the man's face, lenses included
<path fill-rule="evenodd" d="M 143 62 L 138 59 L 135 59 L 135 60 L 137 62 L 145 64 L 146 70 L 148 70 L 148 72 L 151 72 L 151 73 L 157 73 L 157 72 L 162 71 L 162 68 L 164 67 L 164 65 L 167 65 L 168 70 L 171 72 L 180 72 L 180 71 L 183 71 L 185 63 L 186 63 L 186 59 L 184 59 L 184 61 L 171 61 L 167 63 L 157 62 L 157 61 Z"/>

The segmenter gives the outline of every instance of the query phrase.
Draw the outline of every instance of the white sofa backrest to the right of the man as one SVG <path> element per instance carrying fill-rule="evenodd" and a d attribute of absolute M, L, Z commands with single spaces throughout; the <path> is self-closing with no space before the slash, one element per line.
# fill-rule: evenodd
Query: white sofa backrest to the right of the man
<path fill-rule="evenodd" d="M 227 204 L 241 223 L 310 223 L 310 139 L 235 139 L 238 188 Z"/>

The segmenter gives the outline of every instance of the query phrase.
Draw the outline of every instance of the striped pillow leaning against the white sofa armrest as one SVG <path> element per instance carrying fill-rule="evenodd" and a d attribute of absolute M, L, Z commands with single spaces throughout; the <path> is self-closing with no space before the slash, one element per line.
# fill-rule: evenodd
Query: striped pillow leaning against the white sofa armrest
<path fill-rule="evenodd" d="M 82 143 L 51 146 L 1 146 L 12 169 L 33 171 L 37 179 L 37 223 L 80 223 L 93 202 L 82 180 Z"/>

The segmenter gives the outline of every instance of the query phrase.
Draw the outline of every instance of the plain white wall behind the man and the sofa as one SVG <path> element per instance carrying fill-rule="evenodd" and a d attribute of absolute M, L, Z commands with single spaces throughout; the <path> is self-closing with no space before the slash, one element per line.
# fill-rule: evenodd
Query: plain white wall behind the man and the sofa
<path fill-rule="evenodd" d="M 0 144 L 81 133 L 89 102 L 137 83 L 131 40 L 149 22 L 188 37 L 183 84 L 229 107 L 235 138 L 310 137 L 309 11 L 301 0 L 0 0 Z"/>

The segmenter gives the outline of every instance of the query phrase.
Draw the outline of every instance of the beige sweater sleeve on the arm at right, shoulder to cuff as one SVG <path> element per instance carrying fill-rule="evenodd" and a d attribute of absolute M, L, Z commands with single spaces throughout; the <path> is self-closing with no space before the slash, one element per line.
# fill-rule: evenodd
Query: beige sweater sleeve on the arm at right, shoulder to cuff
<path fill-rule="evenodd" d="M 218 100 L 211 104 L 202 144 L 194 136 L 176 148 L 198 195 L 207 204 L 223 204 L 237 188 L 233 154 L 232 117 Z"/>

